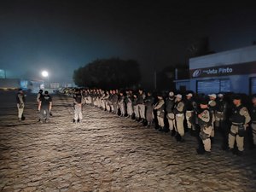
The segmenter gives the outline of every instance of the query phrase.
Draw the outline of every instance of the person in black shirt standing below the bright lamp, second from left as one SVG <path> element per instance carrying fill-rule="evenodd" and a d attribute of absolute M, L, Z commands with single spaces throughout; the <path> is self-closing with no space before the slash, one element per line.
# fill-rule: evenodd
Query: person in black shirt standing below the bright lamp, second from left
<path fill-rule="evenodd" d="M 40 102 L 38 104 L 38 111 L 40 112 L 40 122 L 43 123 L 44 113 L 46 114 L 45 122 L 49 121 L 49 112 L 52 108 L 52 99 L 49 96 L 49 92 L 47 90 L 44 91 L 44 95 L 40 98 Z"/>

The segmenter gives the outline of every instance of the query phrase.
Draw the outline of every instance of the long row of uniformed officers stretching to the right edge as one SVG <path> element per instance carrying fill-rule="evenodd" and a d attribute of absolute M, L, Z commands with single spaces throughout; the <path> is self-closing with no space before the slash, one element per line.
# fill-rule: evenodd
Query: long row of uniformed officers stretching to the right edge
<path fill-rule="evenodd" d="M 210 94 L 195 96 L 143 90 L 79 90 L 73 96 L 74 122 L 81 121 L 82 105 L 93 105 L 120 117 L 131 118 L 159 131 L 171 131 L 177 142 L 184 142 L 185 132 L 198 138 L 198 154 L 210 154 L 215 131 L 222 136 L 222 148 L 233 154 L 244 151 L 247 135 L 251 148 L 256 143 L 256 95 L 246 107 L 241 95 Z"/>

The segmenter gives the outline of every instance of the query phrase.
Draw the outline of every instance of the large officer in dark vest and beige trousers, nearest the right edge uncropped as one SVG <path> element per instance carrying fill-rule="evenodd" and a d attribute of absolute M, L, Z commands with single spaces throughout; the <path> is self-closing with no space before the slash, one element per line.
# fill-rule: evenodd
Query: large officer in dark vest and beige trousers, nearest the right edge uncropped
<path fill-rule="evenodd" d="M 230 117 L 230 122 L 232 125 L 230 128 L 230 134 L 229 134 L 229 148 L 233 154 L 236 154 L 236 151 L 234 150 L 234 145 L 236 140 L 236 145 L 238 148 L 237 155 L 241 155 L 244 150 L 243 140 L 244 140 L 245 131 L 248 126 L 248 123 L 251 120 L 251 117 L 247 111 L 247 108 L 245 108 L 241 104 L 240 96 L 234 96 L 233 104 L 234 104 L 234 107 L 232 108 L 232 113 Z"/>

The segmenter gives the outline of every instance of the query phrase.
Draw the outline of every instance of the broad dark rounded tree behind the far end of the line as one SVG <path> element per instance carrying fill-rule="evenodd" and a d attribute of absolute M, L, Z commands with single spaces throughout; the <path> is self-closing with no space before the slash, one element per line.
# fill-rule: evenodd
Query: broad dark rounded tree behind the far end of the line
<path fill-rule="evenodd" d="M 137 84 L 140 79 L 137 61 L 119 58 L 92 61 L 73 73 L 74 83 L 78 86 L 102 89 L 129 87 Z"/>

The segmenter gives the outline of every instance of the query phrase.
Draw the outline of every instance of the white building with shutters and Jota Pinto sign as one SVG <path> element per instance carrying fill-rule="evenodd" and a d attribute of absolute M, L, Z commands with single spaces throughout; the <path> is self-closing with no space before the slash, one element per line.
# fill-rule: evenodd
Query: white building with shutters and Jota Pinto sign
<path fill-rule="evenodd" d="M 190 79 L 177 80 L 177 90 L 197 93 L 256 93 L 256 46 L 189 60 Z"/>

